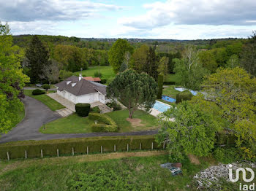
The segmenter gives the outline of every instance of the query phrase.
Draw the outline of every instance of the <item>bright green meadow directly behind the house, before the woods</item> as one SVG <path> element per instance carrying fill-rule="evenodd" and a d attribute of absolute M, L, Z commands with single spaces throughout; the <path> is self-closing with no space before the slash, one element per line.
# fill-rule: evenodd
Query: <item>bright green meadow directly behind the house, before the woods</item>
<path fill-rule="evenodd" d="M 111 77 L 115 77 L 116 74 L 114 73 L 111 66 L 91 66 L 87 70 L 82 71 L 83 77 L 94 77 L 94 73 L 99 71 L 102 73 L 101 79 L 109 79 Z M 74 72 L 74 75 L 78 76 L 80 71 Z"/>

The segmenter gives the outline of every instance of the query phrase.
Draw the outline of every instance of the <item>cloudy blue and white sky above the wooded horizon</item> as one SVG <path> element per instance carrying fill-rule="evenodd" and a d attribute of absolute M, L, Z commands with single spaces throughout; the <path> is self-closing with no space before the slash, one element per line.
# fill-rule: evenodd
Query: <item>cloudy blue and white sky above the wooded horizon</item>
<path fill-rule="evenodd" d="M 11 33 L 83 38 L 246 38 L 255 0 L 0 0 Z"/>

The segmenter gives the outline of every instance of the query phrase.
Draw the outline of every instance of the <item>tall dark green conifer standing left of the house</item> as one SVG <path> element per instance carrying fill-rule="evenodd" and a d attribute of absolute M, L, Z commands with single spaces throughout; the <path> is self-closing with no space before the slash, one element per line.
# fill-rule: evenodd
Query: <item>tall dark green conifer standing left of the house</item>
<path fill-rule="evenodd" d="M 49 52 L 35 35 L 33 36 L 29 47 L 26 49 L 26 58 L 28 59 L 29 77 L 32 83 L 40 82 L 40 75 L 43 69 L 50 65 Z"/>

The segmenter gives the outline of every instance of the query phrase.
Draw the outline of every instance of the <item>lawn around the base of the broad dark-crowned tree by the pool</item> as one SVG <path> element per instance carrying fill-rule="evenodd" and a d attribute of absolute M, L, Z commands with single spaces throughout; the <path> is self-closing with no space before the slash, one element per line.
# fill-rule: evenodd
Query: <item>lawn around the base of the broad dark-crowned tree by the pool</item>
<path fill-rule="evenodd" d="M 157 128 L 157 119 L 156 117 L 152 116 L 151 114 L 147 114 L 141 110 L 135 111 L 132 118 L 133 119 L 140 119 L 141 125 L 132 125 L 130 122 L 127 121 L 129 117 L 129 111 L 127 109 L 114 111 L 107 113 L 118 125 L 120 128 L 119 132 L 128 132 L 128 131 L 138 131 L 138 130 L 150 130 Z"/>

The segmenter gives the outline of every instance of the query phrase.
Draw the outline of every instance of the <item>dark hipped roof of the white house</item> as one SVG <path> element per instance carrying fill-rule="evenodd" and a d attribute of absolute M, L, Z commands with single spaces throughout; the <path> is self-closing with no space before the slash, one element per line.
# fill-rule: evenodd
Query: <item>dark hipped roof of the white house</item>
<path fill-rule="evenodd" d="M 67 82 L 69 83 L 67 84 Z M 72 87 L 72 85 L 74 86 Z M 75 76 L 69 77 L 64 81 L 59 82 L 58 84 L 56 84 L 56 87 L 59 87 L 58 90 L 60 91 L 66 90 L 67 92 L 77 96 L 85 95 L 89 93 L 97 93 L 97 92 L 107 95 L 107 92 L 106 92 L 107 86 L 99 84 L 97 82 L 91 82 L 83 78 L 80 79 L 79 81 L 79 77 L 75 77 Z"/>

